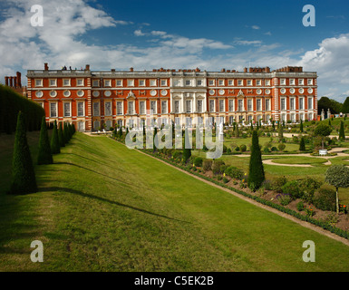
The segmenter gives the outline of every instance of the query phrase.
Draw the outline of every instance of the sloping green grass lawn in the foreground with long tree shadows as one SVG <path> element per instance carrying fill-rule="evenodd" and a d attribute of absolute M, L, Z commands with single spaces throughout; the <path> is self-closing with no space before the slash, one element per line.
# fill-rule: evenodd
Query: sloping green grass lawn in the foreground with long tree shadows
<path fill-rule="evenodd" d="M 76 133 L 35 170 L 38 193 L 0 194 L 1 271 L 349 270 L 344 244 L 107 137 Z M 30 261 L 35 239 L 44 263 Z M 315 263 L 302 260 L 305 240 Z"/>

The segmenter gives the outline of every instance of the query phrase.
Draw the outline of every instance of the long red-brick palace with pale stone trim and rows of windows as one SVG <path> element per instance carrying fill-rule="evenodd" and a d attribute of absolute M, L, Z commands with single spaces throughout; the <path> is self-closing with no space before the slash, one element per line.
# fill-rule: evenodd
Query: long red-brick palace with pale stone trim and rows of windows
<path fill-rule="evenodd" d="M 115 125 L 314 120 L 317 75 L 302 67 L 243 72 L 154 69 L 91 71 L 84 69 L 27 72 L 26 94 L 46 111 L 46 121 L 68 121 L 79 131 Z"/>

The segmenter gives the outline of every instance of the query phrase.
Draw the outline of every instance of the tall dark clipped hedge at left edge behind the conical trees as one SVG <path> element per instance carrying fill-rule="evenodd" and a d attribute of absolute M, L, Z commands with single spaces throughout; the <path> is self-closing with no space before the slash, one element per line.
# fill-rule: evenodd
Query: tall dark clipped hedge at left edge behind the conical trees
<path fill-rule="evenodd" d="M 15 132 L 19 111 L 23 112 L 27 131 L 40 130 L 45 115 L 42 106 L 0 84 L 0 133 Z"/>

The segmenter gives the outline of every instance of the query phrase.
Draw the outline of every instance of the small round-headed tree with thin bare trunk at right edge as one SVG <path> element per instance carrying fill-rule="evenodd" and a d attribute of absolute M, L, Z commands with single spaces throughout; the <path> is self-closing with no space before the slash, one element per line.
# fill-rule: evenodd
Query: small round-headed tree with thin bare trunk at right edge
<path fill-rule="evenodd" d="M 349 169 L 344 165 L 333 165 L 325 172 L 325 182 L 335 188 L 335 208 L 339 212 L 338 189 L 349 188 Z"/>

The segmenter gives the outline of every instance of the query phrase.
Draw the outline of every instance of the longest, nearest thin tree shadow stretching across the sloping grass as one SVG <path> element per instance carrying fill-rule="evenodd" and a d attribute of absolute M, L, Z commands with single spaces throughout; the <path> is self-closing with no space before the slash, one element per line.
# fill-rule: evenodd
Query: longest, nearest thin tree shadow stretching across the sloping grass
<path fill-rule="evenodd" d="M 120 207 L 123 207 L 123 208 L 131 208 L 133 210 L 137 210 L 137 211 L 140 211 L 142 213 L 149 214 L 149 215 L 152 215 L 152 216 L 155 216 L 155 217 L 167 218 L 167 219 L 170 219 L 170 220 L 176 220 L 176 221 L 183 222 L 183 223 L 190 223 L 188 221 L 180 220 L 180 219 L 177 219 L 177 218 L 170 218 L 170 217 L 167 217 L 167 216 L 163 216 L 163 215 L 160 215 L 160 214 L 157 214 L 157 213 L 154 213 L 154 212 L 151 212 L 149 210 L 142 209 L 142 208 L 135 208 L 135 207 L 132 207 L 132 206 L 129 206 L 129 205 L 125 205 L 125 204 L 123 204 L 121 202 L 118 202 L 118 201 L 113 201 L 113 200 L 110 200 L 110 199 L 107 199 L 107 198 L 96 197 L 96 196 L 93 196 L 92 194 L 84 193 L 82 191 L 75 190 L 75 189 L 52 187 L 52 188 L 40 188 L 39 191 L 46 191 L 46 192 L 49 192 L 49 191 L 64 191 L 64 192 L 68 192 L 68 193 L 79 195 L 79 196 L 81 196 L 83 198 L 92 198 L 92 199 L 96 199 L 96 200 L 99 200 L 99 201 L 102 201 L 102 202 L 110 203 L 112 205 L 120 206 Z"/>

